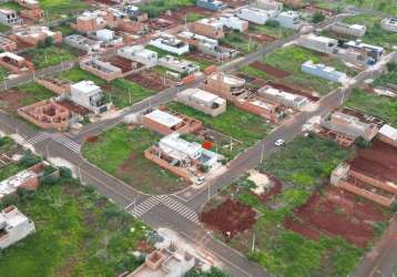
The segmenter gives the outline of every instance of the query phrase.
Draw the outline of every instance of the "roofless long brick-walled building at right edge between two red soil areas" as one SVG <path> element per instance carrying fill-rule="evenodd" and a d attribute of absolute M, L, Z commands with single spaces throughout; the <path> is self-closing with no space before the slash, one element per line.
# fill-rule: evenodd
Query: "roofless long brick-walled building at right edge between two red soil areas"
<path fill-rule="evenodd" d="M 332 172 L 330 184 L 386 207 L 390 207 L 397 196 L 396 184 L 355 171 L 347 163 L 339 164 Z"/>

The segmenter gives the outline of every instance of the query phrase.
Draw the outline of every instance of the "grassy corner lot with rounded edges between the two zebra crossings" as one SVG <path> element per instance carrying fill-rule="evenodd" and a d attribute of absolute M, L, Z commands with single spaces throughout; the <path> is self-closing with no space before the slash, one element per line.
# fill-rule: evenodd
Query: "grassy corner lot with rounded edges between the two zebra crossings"
<path fill-rule="evenodd" d="M 147 129 L 130 130 L 118 125 L 102 133 L 98 142 L 85 143 L 82 153 L 91 163 L 136 189 L 150 194 L 172 193 L 185 187 L 186 182 L 146 160 L 143 154 L 160 138 Z"/>

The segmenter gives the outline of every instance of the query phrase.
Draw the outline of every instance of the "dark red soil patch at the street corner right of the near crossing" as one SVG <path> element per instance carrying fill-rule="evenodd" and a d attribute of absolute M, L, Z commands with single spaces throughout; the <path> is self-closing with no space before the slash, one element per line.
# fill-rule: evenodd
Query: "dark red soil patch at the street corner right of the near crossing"
<path fill-rule="evenodd" d="M 226 239 L 251 229 L 256 222 L 255 212 L 250 206 L 230 198 L 218 207 L 202 213 L 200 219 L 208 227 L 222 232 Z"/>

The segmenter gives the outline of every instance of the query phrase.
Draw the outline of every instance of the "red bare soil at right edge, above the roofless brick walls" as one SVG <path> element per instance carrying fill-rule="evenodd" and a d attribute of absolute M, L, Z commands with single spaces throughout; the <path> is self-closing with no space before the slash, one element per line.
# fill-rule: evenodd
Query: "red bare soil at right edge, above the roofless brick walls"
<path fill-rule="evenodd" d="M 376 140 L 369 148 L 358 150 L 350 166 L 380 181 L 397 182 L 397 148 Z"/>

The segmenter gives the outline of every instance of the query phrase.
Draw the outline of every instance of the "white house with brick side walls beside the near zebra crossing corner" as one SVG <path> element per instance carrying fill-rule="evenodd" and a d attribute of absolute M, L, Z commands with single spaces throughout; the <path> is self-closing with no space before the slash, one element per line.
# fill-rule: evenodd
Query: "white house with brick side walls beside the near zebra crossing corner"
<path fill-rule="evenodd" d="M 181 138 L 176 132 L 161 138 L 144 155 L 161 167 L 196 184 L 204 182 L 206 172 L 221 167 L 223 158 L 198 143 Z"/>

